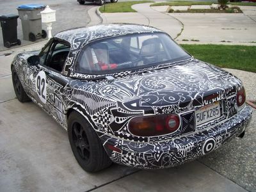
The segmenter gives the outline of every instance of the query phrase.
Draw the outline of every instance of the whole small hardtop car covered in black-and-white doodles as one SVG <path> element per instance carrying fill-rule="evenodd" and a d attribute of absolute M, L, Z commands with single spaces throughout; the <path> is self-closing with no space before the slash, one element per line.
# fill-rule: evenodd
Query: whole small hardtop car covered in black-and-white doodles
<path fill-rule="evenodd" d="M 237 77 L 149 26 L 62 31 L 15 56 L 12 78 L 20 102 L 33 100 L 67 130 L 88 172 L 186 163 L 243 137 L 252 116 Z"/>

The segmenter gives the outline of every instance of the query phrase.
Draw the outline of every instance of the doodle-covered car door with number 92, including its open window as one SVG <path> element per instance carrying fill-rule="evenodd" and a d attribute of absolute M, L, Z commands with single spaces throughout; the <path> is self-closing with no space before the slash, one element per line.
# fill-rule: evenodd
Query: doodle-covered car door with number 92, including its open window
<path fill-rule="evenodd" d="M 65 96 L 63 89 L 68 77 L 61 74 L 70 51 L 68 42 L 53 39 L 38 54 L 38 70 L 33 74 L 36 102 L 61 124 L 65 123 Z"/>

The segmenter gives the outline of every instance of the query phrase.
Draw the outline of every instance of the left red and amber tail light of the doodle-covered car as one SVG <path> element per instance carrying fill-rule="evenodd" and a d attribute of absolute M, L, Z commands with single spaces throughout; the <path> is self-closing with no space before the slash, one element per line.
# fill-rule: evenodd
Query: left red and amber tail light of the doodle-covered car
<path fill-rule="evenodd" d="M 139 116 L 132 118 L 128 127 L 136 136 L 157 136 L 177 131 L 180 118 L 176 114 Z"/>

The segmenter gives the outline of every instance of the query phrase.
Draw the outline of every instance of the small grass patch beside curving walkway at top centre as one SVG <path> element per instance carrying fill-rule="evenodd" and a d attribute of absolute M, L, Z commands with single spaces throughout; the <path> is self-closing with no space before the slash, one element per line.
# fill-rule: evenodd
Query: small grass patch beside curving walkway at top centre
<path fill-rule="evenodd" d="M 118 12 L 136 12 L 131 8 L 133 4 L 138 3 L 154 3 L 154 1 L 127 1 L 118 3 L 107 3 L 104 10 L 104 5 L 100 7 L 102 13 L 118 13 Z"/>

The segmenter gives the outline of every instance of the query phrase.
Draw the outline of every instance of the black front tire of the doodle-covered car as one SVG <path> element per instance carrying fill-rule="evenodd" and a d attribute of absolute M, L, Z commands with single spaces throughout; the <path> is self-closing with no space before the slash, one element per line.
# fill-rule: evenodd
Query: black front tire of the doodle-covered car
<path fill-rule="evenodd" d="M 15 95 L 20 102 L 28 102 L 31 100 L 27 93 L 24 91 L 24 88 L 22 87 L 20 79 L 14 68 L 12 68 L 12 83 Z"/>

